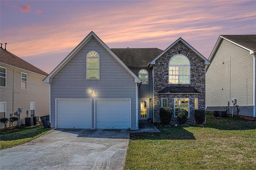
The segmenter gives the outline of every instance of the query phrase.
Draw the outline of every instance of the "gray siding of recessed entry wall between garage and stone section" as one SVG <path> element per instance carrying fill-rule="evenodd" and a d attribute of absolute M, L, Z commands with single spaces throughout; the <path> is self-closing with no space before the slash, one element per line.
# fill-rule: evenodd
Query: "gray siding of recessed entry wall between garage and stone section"
<path fill-rule="evenodd" d="M 138 88 L 138 98 L 139 99 L 152 99 L 151 95 L 151 88 L 152 88 L 152 72 L 151 69 L 148 67 L 129 67 L 137 76 L 139 76 L 139 71 L 140 69 L 146 69 L 148 71 L 148 84 L 141 84 L 140 87 Z M 138 103 L 140 104 L 140 103 Z M 151 102 L 149 101 L 149 117 L 152 119 L 152 105 Z"/>

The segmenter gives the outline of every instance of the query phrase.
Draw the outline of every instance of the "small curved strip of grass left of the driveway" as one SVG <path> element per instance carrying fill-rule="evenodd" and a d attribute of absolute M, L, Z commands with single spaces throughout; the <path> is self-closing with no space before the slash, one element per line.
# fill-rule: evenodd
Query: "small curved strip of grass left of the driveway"
<path fill-rule="evenodd" d="M 11 148 L 26 143 L 47 133 L 50 128 L 37 126 L 32 128 L 16 127 L 18 130 L 8 133 L 0 133 L 0 150 Z M 4 132 L 4 130 L 3 130 Z"/>

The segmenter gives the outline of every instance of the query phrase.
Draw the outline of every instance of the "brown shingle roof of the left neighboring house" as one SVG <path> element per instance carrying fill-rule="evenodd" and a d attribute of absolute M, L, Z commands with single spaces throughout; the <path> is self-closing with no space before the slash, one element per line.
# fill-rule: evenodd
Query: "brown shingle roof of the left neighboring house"
<path fill-rule="evenodd" d="M 16 55 L 10 53 L 9 51 L 0 47 L 0 62 L 8 65 L 12 65 L 14 67 L 18 67 L 27 71 L 31 71 L 33 73 L 37 73 L 40 75 L 47 76 L 48 73 L 38 69 L 34 65 L 28 63 L 27 61 L 17 57 Z"/>

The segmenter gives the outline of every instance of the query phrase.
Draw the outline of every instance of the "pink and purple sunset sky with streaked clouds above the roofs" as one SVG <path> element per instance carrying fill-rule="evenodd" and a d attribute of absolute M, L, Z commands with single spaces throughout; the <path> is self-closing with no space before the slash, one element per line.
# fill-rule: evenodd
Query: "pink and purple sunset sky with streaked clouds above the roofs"
<path fill-rule="evenodd" d="M 46 73 L 91 31 L 110 48 L 182 37 L 208 58 L 220 35 L 256 34 L 256 0 L 0 0 L 1 43 Z"/>

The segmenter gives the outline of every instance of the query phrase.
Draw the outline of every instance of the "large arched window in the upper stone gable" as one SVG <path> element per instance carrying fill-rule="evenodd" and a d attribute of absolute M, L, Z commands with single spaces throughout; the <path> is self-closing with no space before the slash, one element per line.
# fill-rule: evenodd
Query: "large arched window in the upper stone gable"
<path fill-rule="evenodd" d="M 169 84 L 190 83 L 190 62 L 185 55 L 174 55 L 169 62 Z"/>

